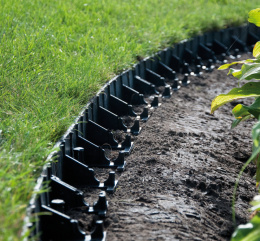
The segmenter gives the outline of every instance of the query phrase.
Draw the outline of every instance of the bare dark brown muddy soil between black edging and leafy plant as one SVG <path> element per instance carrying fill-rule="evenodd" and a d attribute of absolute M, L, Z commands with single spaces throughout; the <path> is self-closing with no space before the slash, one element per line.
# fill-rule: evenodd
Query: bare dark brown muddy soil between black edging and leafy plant
<path fill-rule="evenodd" d="M 190 77 L 188 87 L 150 111 L 126 157 L 126 170 L 117 173 L 116 192 L 107 195 L 108 241 L 230 239 L 233 187 L 251 153 L 254 122 L 231 130 L 234 103 L 210 114 L 212 99 L 237 87 L 226 73 L 215 69 Z M 249 202 L 256 194 L 254 174 L 251 165 L 240 182 L 237 224 L 249 218 Z M 89 201 L 92 194 L 85 195 Z M 89 232 L 89 216 L 76 213 L 71 215 Z"/>

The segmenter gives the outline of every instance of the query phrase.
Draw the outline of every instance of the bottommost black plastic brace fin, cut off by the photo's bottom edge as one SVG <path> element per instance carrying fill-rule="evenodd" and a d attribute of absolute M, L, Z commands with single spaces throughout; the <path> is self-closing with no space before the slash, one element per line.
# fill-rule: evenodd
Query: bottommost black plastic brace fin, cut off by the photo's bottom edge
<path fill-rule="evenodd" d="M 69 216 L 47 207 L 41 206 L 42 213 L 39 216 L 41 223 L 41 238 L 43 241 L 84 241 L 85 232 L 80 230 L 78 221 L 71 219 Z"/>

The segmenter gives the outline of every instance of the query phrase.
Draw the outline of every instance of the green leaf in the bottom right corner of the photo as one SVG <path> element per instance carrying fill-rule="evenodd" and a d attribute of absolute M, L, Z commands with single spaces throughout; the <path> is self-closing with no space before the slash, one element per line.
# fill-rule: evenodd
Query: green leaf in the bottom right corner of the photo
<path fill-rule="evenodd" d="M 239 225 L 232 235 L 231 241 L 259 241 L 260 215 L 255 215 L 247 224 Z"/>

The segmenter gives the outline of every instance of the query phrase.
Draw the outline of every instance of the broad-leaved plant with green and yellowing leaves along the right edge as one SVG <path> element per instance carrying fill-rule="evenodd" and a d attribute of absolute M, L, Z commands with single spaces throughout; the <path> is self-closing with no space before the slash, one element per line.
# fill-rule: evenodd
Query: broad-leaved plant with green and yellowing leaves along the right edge
<path fill-rule="evenodd" d="M 260 27 L 260 8 L 254 9 L 249 12 L 248 21 Z M 233 193 L 233 220 L 235 221 L 235 197 L 236 189 L 240 177 L 245 170 L 245 168 L 252 161 L 256 162 L 256 185 L 259 187 L 260 183 L 260 41 L 257 42 L 253 49 L 253 59 L 247 59 L 242 61 L 233 62 L 230 64 L 224 64 L 219 67 L 219 69 L 229 69 L 228 74 L 232 74 L 239 80 L 246 81 L 246 84 L 239 88 L 232 89 L 227 94 L 221 94 L 217 96 L 211 103 L 211 113 L 213 113 L 220 106 L 229 103 L 234 100 L 244 99 L 248 97 L 253 97 L 254 102 L 251 105 L 237 104 L 232 113 L 235 120 L 232 122 L 232 128 L 236 127 L 240 122 L 245 121 L 250 118 L 255 118 L 257 120 L 256 124 L 252 128 L 252 138 L 253 138 L 253 150 L 250 158 L 242 167 L 239 176 L 236 181 Z M 242 65 L 241 69 L 231 68 L 233 65 Z M 260 240 L 260 196 L 256 196 L 251 203 L 254 214 L 251 221 L 245 225 L 239 225 L 236 231 L 232 235 L 232 241 L 253 241 Z"/>

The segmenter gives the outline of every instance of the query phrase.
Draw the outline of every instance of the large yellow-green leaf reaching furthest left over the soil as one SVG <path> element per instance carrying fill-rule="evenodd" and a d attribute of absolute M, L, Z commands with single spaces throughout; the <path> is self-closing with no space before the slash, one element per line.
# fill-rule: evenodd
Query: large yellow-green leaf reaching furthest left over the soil
<path fill-rule="evenodd" d="M 249 82 L 243 85 L 241 88 L 234 88 L 228 94 L 221 94 L 213 99 L 211 103 L 211 113 L 213 113 L 220 106 L 237 99 L 243 99 L 247 97 L 259 97 L 260 96 L 260 83 Z"/>

